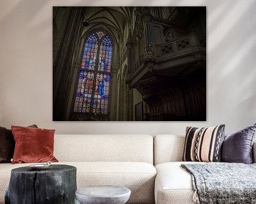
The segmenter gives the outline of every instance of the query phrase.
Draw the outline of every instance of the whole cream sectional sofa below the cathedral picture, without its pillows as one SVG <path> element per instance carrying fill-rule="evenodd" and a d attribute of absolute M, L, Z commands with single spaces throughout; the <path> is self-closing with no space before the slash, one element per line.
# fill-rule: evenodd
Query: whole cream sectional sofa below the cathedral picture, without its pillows
<path fill-rule="evenodd" d="M 125 186 L 134 204 L 193 203 L 191 175 L 180 167 L 184 140 L 183 135 L 55 135 L 54 155 L 56 164 L 76 166 L 78 188 Z M 0 164 L 0 204 L 11 169 L 28 165 Z"/>

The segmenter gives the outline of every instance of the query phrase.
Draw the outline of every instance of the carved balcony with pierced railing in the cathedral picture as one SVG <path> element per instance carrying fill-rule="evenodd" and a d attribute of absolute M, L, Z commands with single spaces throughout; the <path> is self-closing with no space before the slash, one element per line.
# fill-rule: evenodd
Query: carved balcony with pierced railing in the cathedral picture
<path fill-rule="evenodd" d="M 191 64 L 206 63 L 206 38 L 191 33 L 153 47 L 153 60 L 147 60 L 145 55 L 132 64 L 129 75 L 129 85 L 134 87 L 140 79 L 149 77 L 152 73 L 176 75 L 190 67 Z"/>

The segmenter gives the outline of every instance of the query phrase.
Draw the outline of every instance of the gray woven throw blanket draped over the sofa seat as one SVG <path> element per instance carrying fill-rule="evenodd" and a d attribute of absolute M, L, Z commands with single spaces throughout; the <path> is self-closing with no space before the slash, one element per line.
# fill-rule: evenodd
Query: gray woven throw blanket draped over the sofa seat
<path fill-rule="evenodd" d="M 256 163 L 181 164 L 192 176 L 196 203 L 256 203 Z"/>

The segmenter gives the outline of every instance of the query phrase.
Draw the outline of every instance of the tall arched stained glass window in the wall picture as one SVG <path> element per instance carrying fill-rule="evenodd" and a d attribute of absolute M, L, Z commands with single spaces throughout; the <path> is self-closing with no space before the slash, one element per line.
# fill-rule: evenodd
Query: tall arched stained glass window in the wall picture
<path fill-rule="evenodd" d="M 102 32 L 85 40 L 82 64 L 75 95 L 75 113 L 107 115 L 110 94 L 112 40 Z"/>

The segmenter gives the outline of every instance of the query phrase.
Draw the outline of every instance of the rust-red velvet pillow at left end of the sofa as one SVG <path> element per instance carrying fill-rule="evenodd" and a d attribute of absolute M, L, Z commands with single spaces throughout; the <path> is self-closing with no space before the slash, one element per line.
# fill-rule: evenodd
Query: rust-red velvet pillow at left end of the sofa
<path fill-rule="evenodd" d="M 12 164 L 29 162 L 58 162 L 53 157 L 55 130 L 11 126 L 16 142 Z"/>

